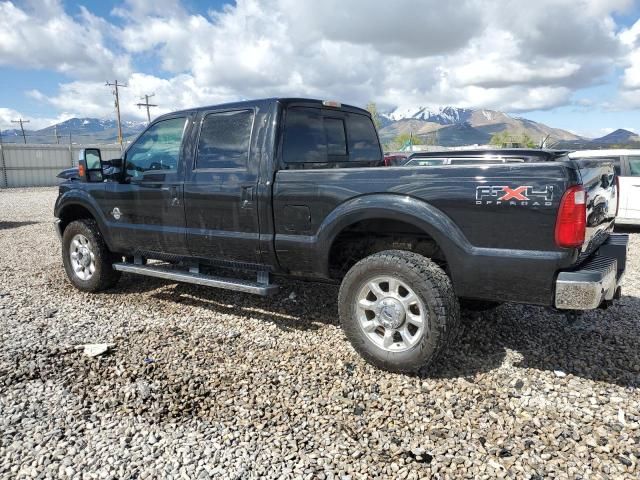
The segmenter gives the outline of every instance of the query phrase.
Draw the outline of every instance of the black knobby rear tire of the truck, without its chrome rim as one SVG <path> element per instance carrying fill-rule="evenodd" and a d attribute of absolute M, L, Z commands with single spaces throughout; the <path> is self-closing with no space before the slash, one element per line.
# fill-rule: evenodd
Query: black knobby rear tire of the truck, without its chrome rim
<path fill-rule="evenodd" d="M 385 275 L 406 283 L 428 313 L 422 338 L 402 352 L 376 345 L 357 317 L 360 290 L 371 279 Z M 342 329 L 356 351 L 368 362 L 391 372 L 416 372 L 428 367 L 460 326 L 460 306 L 447 274 L 430 259 L 409 251 L 386 250 L 356 263 L 342 281 L 338 302 Z"/>

